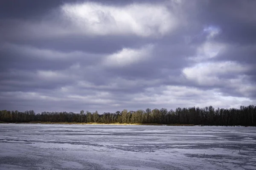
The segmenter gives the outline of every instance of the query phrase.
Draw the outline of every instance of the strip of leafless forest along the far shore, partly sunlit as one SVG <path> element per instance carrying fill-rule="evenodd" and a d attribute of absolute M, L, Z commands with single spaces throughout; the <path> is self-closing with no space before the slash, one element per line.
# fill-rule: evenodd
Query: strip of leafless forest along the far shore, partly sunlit
<path fill-rule="evenodd" d="M 34 111 L 0 111 L 0 122 L 73 122 L 73 123 L 103 123 L 103 124 L 186 124 L 186 125 L 242 125 L 256 126 L 256 107 L 254 105 L 237 108 L 176 108 L 168 111 L 166 108 L 144 110 L 116 111 L 102 113 L 98 111 L 73 112 L 42 112 Z"/>

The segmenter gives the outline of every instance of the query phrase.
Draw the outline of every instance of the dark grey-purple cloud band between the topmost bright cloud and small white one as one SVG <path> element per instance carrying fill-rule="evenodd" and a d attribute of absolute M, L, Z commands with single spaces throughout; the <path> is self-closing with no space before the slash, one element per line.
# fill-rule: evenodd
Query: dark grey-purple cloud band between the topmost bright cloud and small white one
<path fill-rule="evenodd" d="M 57 51 L 86 51 L 93 54 L 109 54 L 124 47 L 137 48 L 155 40 L 143 40 L 136 36 L 111 36 L 111 37 L 81 37 L 67 36 L 47 40 L 19 40 L 17 44 L 32 45 L 37 48 L 54 49 Z M 110 43 L 111 42 L 111 43 Z M 64 48 L 63 48 L 64 47 Z M 99 51 L 99 49 L 101 49 Z"/>

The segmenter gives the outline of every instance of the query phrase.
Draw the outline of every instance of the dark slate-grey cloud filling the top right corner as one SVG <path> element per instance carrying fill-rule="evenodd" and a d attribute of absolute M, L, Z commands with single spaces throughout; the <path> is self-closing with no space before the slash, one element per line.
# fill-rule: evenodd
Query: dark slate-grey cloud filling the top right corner
<path fill-rule="evenodd" d="M 204 22 L 220 26 L 218 40 L 248 45 L 256 43 L 256 1 L 254 0 L 212 0 L 202 15 Z"/>

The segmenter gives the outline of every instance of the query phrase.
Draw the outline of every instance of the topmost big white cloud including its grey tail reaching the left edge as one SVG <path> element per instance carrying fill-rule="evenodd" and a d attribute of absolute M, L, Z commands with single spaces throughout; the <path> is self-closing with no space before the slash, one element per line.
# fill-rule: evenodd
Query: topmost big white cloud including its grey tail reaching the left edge
<path fill-rule="evenodd" d="M 175 10 L 172 10 L 175 11 Z M 0 19 L 3 40 L 48 40 L 68 36 L 163 37 L 174 31 L 179 19 L 162 3 L 63 3 L 39 20 Z M 154 16 L 154 17 L 153 17 Z"/>

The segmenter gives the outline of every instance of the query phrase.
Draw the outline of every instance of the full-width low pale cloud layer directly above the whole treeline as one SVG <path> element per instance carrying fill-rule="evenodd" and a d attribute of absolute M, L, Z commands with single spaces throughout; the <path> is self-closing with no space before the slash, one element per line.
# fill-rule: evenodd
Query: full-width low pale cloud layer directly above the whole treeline
<path fill-rule="evenodd" d="M 28 103 L 26 107 L 35 111 L 76 111 L 98 110 L 121 111 L 124 108 L 131 110 L 145 108 L 177 108 L 177 107 L 213 107 L 239 108 L 240 105 L 253 104 L 255 100 L 248 97 L 223 96 L 218 89 L 203 90 L 200 88 L 176 85 L 161 85 L 159 87 L 148 87 L 143 92 L 135 94 L 124 94 L 124 91 L 115 93 L 114 91 L 99 91 L 97 86 L 94 89 L 80 88 L 77 86 L 67 86 L 60 89 L 41 92 L 2 92 L 0 98 L 6 107 L 12 107 L 16 103 L 16 108 L 23 108 L 22 103 Z M 13 100 L 13 98 L 15 98 Z M 12 102 L 14 103 L 12 103 Z M 21 102 L 22 101 L 22 102 Z M 51 109 L 49 109 L 50 107 Z"/>

